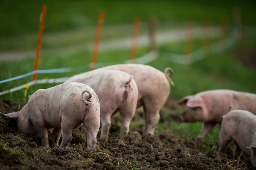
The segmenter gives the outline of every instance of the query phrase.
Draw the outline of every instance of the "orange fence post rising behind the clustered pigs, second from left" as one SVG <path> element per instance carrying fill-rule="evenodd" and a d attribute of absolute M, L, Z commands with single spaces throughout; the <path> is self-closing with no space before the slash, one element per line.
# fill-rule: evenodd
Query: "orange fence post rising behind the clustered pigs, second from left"
<path fill-rule="evenodd" d="M 97 27 L 96 27 L 96 34 L 95 34 L 94 45 L 93 45 L 92 62 L 90 65 L 90 71 L 96 69 L 97 56 L 98 56 L 98 51 L 99 51 L 99 40 L 100 40 L 101 31 L 102 31 L 102 25 L 104 22 L 104 16 L 105 16 L 105 11 L 99 11 L 98 23 L 97 23 Z"/>

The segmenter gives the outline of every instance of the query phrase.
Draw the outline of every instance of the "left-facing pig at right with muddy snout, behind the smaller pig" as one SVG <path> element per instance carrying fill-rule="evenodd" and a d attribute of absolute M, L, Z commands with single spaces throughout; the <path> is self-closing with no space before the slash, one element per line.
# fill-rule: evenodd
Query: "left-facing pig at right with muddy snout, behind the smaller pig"
<path fill-rule="evenodd" d="M 199 138 L 207 136 L 212 128 L 221 125 L 222 116 L 228 112 L 230 103 L 236 109 L 247 110 L 256 114 L 256 94 L 228 89 L 203 91 L 193 96 L 186 96 L 177 102 L 188 108 L 178 116 L 181 122 L 203 122 Z"/>

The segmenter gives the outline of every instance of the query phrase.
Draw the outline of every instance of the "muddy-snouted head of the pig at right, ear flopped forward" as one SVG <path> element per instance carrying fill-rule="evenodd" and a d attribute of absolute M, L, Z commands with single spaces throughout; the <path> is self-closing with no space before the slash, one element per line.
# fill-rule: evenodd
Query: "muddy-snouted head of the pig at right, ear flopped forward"
<path fill-rule="evenodd" d="M 186 96 L 178 102 L 178 105 L 186 105 L 188 108 L 178 118 L 181 122 L 199 122 L 207 119 L 208 109 L 204 99 L 199 96 Z"/>

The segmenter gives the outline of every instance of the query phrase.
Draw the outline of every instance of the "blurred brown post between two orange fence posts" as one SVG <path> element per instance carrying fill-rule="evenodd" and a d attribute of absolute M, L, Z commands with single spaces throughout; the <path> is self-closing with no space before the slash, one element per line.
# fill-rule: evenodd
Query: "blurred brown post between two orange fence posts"
<path fill-rule="evenodd" d="M 149 51 L 156 51 L 156 31 L 158 20 L 156 17 L 151 17 L 149 22 Z"/>

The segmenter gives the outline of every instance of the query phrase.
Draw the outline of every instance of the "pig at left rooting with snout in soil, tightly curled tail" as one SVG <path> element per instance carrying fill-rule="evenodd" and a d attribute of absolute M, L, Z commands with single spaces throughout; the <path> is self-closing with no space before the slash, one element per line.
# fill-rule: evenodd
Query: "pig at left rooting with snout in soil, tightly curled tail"
<path fill-rule="evenodd" d="M 18 119 L 18 131 L 27 137 L 41 136 L 43 147 L 49 147 L 48 129 L 52 132 L 52 146 L 57 147 L 62 131 L 61 147 L 72 140 L 73 129 L 83 124 L 87 129 L 87 148 L 94 149 L 100 125 L 99 99 L 92 88 L 78 82 L 68 82 L 52 88 L 39 89 L 29 97 L 18 112 L 5 116 Z"/>

